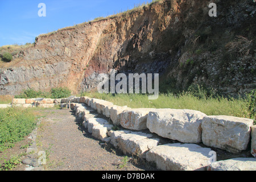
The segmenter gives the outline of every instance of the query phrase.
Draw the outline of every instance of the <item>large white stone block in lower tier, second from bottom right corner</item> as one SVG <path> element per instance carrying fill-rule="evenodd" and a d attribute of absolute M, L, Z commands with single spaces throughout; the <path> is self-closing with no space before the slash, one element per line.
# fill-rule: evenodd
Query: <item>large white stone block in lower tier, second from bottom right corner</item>
<path fill-rule="evenodd" d="M 164 144 L 148 151 L 146 159 L 163 171 L 206 171 L 210 151 L 197 144 Z"/>

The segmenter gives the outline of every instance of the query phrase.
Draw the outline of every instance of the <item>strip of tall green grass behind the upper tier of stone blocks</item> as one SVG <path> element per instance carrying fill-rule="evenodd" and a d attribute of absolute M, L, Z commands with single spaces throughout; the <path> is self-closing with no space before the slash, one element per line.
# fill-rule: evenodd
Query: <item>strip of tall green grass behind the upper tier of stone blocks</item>
<path fill-rule="evenodd" d="M 199 98 L 191 92 L 180 94 L 159 94 L 157 100 L 148 100 L 145 94 L 100 94 L 84 93 L 82 96 L 98 98 L 113 102 L 114 105 L 136 108 L 156 109 L 191 109 L 207 115 L 229 115 L 251 118 L 255 122 L 255 100 L 248 98 L 203 97 Z"/>

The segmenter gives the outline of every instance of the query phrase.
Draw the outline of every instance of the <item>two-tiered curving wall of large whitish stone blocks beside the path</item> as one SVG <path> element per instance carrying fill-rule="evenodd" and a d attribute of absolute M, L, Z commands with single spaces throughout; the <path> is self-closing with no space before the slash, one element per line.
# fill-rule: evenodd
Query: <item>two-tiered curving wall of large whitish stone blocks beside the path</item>
<path fill-rule="evenodd" d="M 131 109 L 88 97 L 75 98 L 72 104 L 76 115 L 93 137 L 110 142 L 125 154 L 138 155 L 155 162 L 163 170 L 255 170 L 255 158 L 236 158 L 210 163 L 210 148 L 216 147 L 238 153 L 246 150 L 251 138 L 251 154 L 255 157 L 256 128 L 253 120 L 228 116 L 207 116 L 194 110 Z M 65 103 L 65 100 L 61 101 Z M 82 103 L 82 104 L 81 104 Z M 90 106 L 125 129 L 113 131 L 113 125 L 90 114 Z M 149 129 L 151 133 L 141 130 Z M 137 130 L 137 131 L 135 131 Z M 159 144 L 160 137 L 181 143 Z"/>

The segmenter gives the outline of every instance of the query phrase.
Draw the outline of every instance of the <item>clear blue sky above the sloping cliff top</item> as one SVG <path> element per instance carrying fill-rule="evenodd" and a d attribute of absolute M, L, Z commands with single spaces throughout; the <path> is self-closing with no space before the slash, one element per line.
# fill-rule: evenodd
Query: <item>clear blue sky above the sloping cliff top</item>
<path fill-rule="evenodd" d="M 150 0 L 0 0 L 0 46 L 33 43 L 40 34 L 133 9 Z M 39 17 L 39 3 L 46 17 Z"/>

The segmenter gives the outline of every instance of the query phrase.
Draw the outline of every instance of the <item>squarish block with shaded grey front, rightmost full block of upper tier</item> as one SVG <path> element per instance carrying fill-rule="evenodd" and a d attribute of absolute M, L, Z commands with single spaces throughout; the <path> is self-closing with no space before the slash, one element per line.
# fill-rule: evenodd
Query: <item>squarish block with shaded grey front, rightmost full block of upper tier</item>
<path fill-rule="evenodd" d="M 206 146 L 237 154 L 247 149 L 253 119 L 225 115 L 207 116 L 202 122 L 202 140 Z"/>

